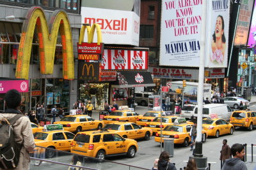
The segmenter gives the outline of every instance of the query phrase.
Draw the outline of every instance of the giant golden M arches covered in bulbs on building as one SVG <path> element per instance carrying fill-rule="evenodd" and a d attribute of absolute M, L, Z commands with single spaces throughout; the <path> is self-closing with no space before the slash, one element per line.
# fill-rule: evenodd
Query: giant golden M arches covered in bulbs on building
<path fill-rule="evenodd" d="M 35 29 L 39 43 L 40 72 L 42 74 L 52 74 L 53 72 L 56 42 L 60 29 L 63 51 L 63 78 L 68 80 L 74 79 L 72 32 L 67 13 L 64 10 L 55 10 L 52 13 L 48 27 L 44 10 L 40 7 L 29 8 L 26 21 L 22 25 L 16 78 L 28 80 L 31 47 Z"/>

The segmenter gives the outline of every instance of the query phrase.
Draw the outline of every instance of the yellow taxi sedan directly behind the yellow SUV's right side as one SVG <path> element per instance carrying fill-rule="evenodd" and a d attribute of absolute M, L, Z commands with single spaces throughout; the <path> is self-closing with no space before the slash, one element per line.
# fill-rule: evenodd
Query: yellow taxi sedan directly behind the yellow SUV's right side
<path fill-rule="evenodd" d="M 106 124 L 104 129 L 108 129 L 109 132 L 115 132 L 120 134 L 123 138 L 140 139 L 143 138 L 146 141 L 150 139 L 153 132 L 146 127 L 140 127 L 132 122 L 115 122 Z"/>

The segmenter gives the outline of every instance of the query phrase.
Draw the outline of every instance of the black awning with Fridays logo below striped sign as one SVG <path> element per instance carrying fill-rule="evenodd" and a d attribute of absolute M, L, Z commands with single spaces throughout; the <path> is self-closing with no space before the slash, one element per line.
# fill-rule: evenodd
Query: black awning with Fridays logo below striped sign
<path fill-rule="evenodd" d="M 118 71 L 116 85 L 112 87 L 154 87 L 151 73 L 147 71 Z"/>

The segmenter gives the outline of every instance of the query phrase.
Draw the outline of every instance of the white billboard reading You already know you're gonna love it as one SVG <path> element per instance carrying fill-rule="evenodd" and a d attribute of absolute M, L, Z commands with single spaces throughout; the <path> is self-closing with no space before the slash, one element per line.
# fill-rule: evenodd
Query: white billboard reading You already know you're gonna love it
<path fill-rule="evenodd" d="M 162 1 L 161 66 L 198 67 L 202 1 Z"/>

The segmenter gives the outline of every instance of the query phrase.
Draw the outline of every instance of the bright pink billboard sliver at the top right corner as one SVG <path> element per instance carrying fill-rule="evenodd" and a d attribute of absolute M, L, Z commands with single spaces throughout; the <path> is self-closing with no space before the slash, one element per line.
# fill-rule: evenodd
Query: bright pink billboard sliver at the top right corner
<path fill-rule="evenodd" d="M 256 4 L 254 3 L 253 9 L 255 9 L 255 7 L 256 7 Z M 255 45 L 255 41 L 256 41 L 256 11 L 253 10 L 247 45 L 252 47 Z"/>

